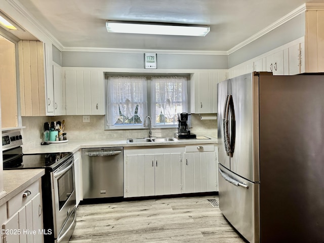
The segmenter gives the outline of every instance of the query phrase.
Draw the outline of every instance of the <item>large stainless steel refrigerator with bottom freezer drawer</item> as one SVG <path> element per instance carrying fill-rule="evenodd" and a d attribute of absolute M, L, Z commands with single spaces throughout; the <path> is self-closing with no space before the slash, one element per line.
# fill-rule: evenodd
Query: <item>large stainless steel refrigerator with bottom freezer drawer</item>
<path fill-rule="evenodd" d="M 324 242 L 324 75 L 218 84 L 219 204 L 251 243 Z"/>

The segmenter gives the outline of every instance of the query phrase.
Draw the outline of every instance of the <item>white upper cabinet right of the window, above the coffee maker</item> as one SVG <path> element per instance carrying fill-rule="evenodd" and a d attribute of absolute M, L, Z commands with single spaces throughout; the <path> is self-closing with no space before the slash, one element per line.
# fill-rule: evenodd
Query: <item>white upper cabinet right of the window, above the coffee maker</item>
<path fill-rule="evenodd" d="M 226 79 L 226 70 L 198 71 L 190 76 L 191 113 L 217 113 L 217 83 Z"/>

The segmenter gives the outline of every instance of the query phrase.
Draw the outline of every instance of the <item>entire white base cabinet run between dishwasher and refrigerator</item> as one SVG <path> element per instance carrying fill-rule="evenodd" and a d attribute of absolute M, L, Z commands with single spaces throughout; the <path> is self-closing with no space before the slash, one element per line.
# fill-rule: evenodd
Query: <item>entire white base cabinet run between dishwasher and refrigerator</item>
<path fill-rule="evenodd" d="M 216 153 L 214 144 L 125 147 L 124 197 L 218 191 Z"/>

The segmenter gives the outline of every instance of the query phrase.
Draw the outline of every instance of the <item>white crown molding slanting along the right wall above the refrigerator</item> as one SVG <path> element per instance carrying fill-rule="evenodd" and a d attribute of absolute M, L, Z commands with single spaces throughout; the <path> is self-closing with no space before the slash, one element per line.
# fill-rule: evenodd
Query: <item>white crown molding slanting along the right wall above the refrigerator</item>
<path fill-rule="evenodd" d="M 315 5 L 315 4 L 314 4 Z M 318 6 L 318 4 L 316 4 Z M 324 7 L 324 5 L 323 5 Z M 258 38 L 262 37 L 263 35 L 269 33 L 270 31 L 274 30 L 275 28 L 278 28 L 280 25 L 285 24 L 289 20 L 295 18 L 296 16 L 300 15 L 301 13 L 306 11 L 306 4 L 303 4 L 299 8 L 295 9 L 294 11 L 290 12 L 289 14 L 285 15 L 284 17 L 278 19 L 276 22 L 270 24 L 268 27 L 260 30 L 258 33 L 252 35 L 250 38 L 247 38 L 244 42 L 239 43 L 235 47 L 228 50 L 228 54 L 231 54 L 233 52 L 236 52 L 242 47 L 247 46 L 248 44 L 256 41 Z"/>

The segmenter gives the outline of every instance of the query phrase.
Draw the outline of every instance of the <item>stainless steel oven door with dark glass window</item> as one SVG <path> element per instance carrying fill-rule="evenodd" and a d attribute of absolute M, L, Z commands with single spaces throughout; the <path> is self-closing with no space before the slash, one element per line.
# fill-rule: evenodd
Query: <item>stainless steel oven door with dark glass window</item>
<path fill-rule="evenodd" d="M 74 158 L 68 159 L 52 174 L 54 236 L 58 238 L 63 226 L 75 208 Z"/>

